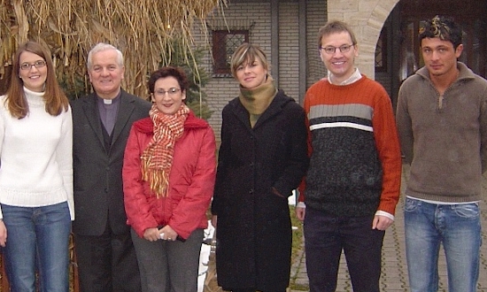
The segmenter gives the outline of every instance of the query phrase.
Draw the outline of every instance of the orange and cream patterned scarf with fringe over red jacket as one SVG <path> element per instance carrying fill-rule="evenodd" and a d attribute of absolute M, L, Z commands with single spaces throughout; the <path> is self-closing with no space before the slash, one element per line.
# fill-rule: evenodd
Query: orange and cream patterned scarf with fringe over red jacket
<path fill-rule="evenodd" d="M 142 179 L 149 181 L 156 197 L 167 196 L 169 173 L 173 165 L 174 144 L 184 132 L 184 121 L 189 108 L 182 104 L 172 115 L 167 115 L 152 104 L 149 116 L 154 123 L 154 136 L 142 154 Z"/>

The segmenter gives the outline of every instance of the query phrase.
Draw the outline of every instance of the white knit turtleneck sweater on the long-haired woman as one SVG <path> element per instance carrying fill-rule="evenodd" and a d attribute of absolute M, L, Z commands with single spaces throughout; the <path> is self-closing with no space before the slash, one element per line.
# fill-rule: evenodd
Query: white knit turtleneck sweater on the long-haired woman
<path fill-rule="evenodd" d="M 40 207 L 67 201 L 73 220 L 71 108 L 53 117 L 45 111 L 43 92 L 24 91 L 24 119 L 13 118 L 0 96 L 0 203 Z"/>

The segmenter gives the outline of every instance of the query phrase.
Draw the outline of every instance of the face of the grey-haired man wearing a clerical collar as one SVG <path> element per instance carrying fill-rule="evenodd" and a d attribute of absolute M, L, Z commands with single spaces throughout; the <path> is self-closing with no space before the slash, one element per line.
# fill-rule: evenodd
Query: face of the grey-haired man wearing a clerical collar
<path fill-rule="evenodd" d="M 125 67 L 120 65 L 116 50 L 101 50 L 91 58 L 89 81 L 97 96 L 112 99 L 119 95 Z"/>

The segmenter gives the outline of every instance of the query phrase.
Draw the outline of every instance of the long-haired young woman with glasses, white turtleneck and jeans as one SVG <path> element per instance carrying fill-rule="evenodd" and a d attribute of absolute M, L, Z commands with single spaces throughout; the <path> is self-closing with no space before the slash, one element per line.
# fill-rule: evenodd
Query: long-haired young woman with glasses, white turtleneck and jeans
<path fill-rule="evenodd" d="M 20 45 L 0 99 L 0 245 L 11 289 L 67 292 L 73 125 L 50 51 Z"/>

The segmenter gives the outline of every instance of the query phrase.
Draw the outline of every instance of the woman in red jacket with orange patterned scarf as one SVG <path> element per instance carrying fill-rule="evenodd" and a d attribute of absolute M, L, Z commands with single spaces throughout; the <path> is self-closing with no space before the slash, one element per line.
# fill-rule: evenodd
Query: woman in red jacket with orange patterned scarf
<path fill-rule="evenodd" d="M 125 150 L 125 209 L 144 292 L 197 291 L 216 145 L 183 102 L 188 86 L 180 68 L 151 74 L 150 117 L 134 123 Z"/>

